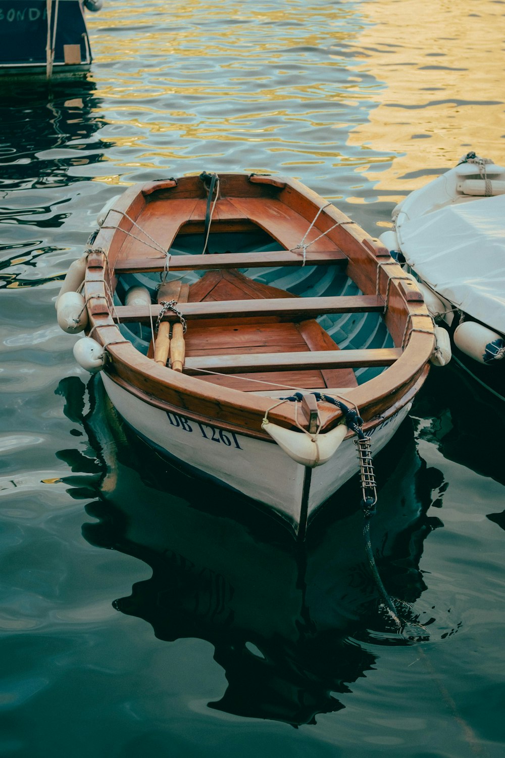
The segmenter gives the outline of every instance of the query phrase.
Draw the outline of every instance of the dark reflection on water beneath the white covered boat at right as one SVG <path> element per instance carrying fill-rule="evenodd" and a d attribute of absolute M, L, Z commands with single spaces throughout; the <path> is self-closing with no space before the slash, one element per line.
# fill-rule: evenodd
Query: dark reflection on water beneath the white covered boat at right
<path fill-rule="evenodd" d="M 420 436 L 435 443 L 445 459 L 505 484 L 503 443 L 497 435 L 505 425 L 505 404 L 464 368 L 451 362 L 431 371 L 416 400 L 416 415 L 429 420 Z M 505 528 L 505 511 L 488 518 Z"/>

